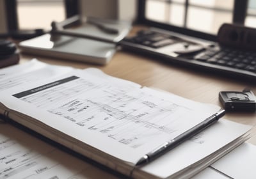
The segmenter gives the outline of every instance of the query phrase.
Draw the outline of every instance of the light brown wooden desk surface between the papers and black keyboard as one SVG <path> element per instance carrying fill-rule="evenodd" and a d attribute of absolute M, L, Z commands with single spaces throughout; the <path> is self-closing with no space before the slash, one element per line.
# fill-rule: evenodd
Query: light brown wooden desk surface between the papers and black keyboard
<path fill-rule="evenodd" d="M 256 84 L 252 82 L 237 81 L 230 77 L 225 78 L 198 72 L 166 63 L 161 59 L 148 58 L 123 51 L 116 52 L 106 66 L 27 55 L 21 56 L 20 63 L 32 58 L 54 65 L 99 68 L 106 74 L 137 82 L 141 86 L 163 89 L 181 97 L 216 105 L 221 105 L 218 100 L 219 91 L 242 91 L 244 88 L 250 87 L 256 92 Z M 256 125 L 256 113 L 227 113 L 225 118 L 239 123 Z M 256 144 L 256 127 L 253 128 L 253 134 L 254 136 L 249 141 Z"/>

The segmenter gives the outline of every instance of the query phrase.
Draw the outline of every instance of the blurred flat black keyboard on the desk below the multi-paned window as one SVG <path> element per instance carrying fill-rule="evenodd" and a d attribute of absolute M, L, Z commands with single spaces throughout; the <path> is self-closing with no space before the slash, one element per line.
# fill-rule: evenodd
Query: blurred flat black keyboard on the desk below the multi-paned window
<path fill-rule="evenodd" d="M 216 42 L 149 28 L 125 38 L 120 46 L 126 51 L 141 52 L 203 72 L 256 79 L 256 52 L 223 47 Z"/>

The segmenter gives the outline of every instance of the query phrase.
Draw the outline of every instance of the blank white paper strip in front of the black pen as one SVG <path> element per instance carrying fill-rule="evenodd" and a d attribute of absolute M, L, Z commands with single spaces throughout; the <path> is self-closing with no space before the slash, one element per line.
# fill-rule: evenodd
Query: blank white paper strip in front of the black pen
<path fill-rule="evenodd" d="M 196 137 L 143 166 L 142 170 L 160 178 L 166 178 L 215 152 L 225 144 L 246 133 L 250 128 L 248 125 L 221 119 L 215 125 L 200 132 Z"/>

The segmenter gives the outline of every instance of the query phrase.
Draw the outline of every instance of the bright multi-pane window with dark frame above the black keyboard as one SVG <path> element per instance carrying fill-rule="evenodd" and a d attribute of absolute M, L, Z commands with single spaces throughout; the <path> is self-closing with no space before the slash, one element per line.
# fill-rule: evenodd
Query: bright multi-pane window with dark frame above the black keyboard
<path fill-rule="evenodd" d="M 256 26 L 255 0 L 143 0 L 139 13 L 148 25 L 209 40 L 223 23 Z"/>

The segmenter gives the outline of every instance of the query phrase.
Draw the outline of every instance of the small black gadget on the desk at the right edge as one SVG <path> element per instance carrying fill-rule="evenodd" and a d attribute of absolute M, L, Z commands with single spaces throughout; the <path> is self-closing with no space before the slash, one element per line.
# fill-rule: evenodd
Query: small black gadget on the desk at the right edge
<path fill-rule="evenodd" d="M 226 111 L 255 112 L 256 98 L 252 91 L 221 91 L 219 99 Z"/>

